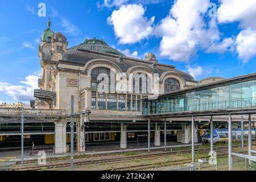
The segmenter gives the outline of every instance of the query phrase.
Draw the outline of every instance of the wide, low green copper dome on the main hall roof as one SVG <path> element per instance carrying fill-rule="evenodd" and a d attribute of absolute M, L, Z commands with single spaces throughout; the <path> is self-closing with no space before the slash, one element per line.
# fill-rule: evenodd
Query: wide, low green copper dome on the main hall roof
<path fill-rule="evenodd" d="M 96 38 L 86 39 L 84 43 L 79 44 L 78 46 L 74 46 L 68 49 L 68 51 L 77 51 L 77 49 L 89 49 L 98 52 L 112 53 L 114 55 L 124 56 L 122 52 L 117 51 L 109 45 L 104 40 L 99 40 Z"/>

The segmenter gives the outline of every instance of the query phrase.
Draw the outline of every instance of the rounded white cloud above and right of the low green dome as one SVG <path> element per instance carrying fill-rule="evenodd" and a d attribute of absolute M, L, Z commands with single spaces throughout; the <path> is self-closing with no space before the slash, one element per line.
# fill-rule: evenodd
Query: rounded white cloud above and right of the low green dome
<path fill-rule="evenodd" d="M 108 17 L 108 23 L 113 25 L 119 43 L 136 43 L 152 33 L 155 16 L 148 20 L 144 16 L 145 11 L 142 5 L 122 5 Z"/>

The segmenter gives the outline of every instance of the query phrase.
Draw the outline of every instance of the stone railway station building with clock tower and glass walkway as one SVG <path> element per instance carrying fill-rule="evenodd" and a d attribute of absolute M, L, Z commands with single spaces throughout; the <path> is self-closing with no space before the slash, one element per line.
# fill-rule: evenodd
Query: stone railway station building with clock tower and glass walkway
<path fill-rule="evenodd" d="M 210 119 L 209 114 L 202 115 L 203 111 L 256 104 L 256 75 L 196 81 L 174 65 L 159 63 L 154 53 L 147 53 L 143 60 L 127 57 L 97 38 L 68 47 L 65 36 L 51 30 L 50 21 L 40 39 L 38 55 L 42 76 L 31 107 L 60 111 L 61 117 L 27 123 L 25 133 L 31 138 L 43 137 L 45 144 L 54 144 L 56 154 L 66 153 L 70 142 L 71 96 L 75 113 L 90 110 L 89 115 L 75 117 L 79 152 L 86 150 L 86 142 L 119 142 L 121 148 L 126 148 L 127 142 L 138 141 L 139 137 L 160 146 L 164 134 L 167 139 L 190 143 L 191 118 L 182 115 L 195 111 L 193 127 L 198 142 L 200 126 Z M 172 113 L 174 117 L 170 117 Z M 254 122 L 254 117 L 251 119 Z M 217 115 L 214 121 L 224 122 L 222 127 L 226 127 L 228 116 Z M 240 122 L 241 115 L 234 116 L 233 121 Z M 11 133 L 5 125 L 0 129 L 3 141 L 16 132 Z M 35 126 L 39 129 L 33 131 Z"/>

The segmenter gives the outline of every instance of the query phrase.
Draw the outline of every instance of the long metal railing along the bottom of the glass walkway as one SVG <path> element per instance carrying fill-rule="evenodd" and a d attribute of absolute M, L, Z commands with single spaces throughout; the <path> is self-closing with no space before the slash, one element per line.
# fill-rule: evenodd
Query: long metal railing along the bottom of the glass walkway
<path fill-rule="evenodd" d="M 183 107 L 173 106 L 164 107 L 168 103 L 161 102 L 161 107 L 148 110 L 143 109 L 143 115 L 147 114 L 164 114 L 164 113 L 181 113 L 185 111 L 207 111 L 207 110 L 229 110 L 256 107 L 256 97 L 243 98 L 240 100 L 227 100 L 217 102 L 207 102 L 205 104 L 184 105 Z M 174 104 L 174 103 L 172 103 Z"/>

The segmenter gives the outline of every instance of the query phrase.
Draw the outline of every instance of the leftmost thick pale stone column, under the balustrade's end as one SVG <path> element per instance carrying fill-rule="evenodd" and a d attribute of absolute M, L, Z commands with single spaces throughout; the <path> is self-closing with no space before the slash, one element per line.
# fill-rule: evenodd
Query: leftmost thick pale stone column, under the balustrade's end
<path fill-rule="evenodd" d="M 55 123 L 55 154 L 67 153 L 66 123 Z"/>

